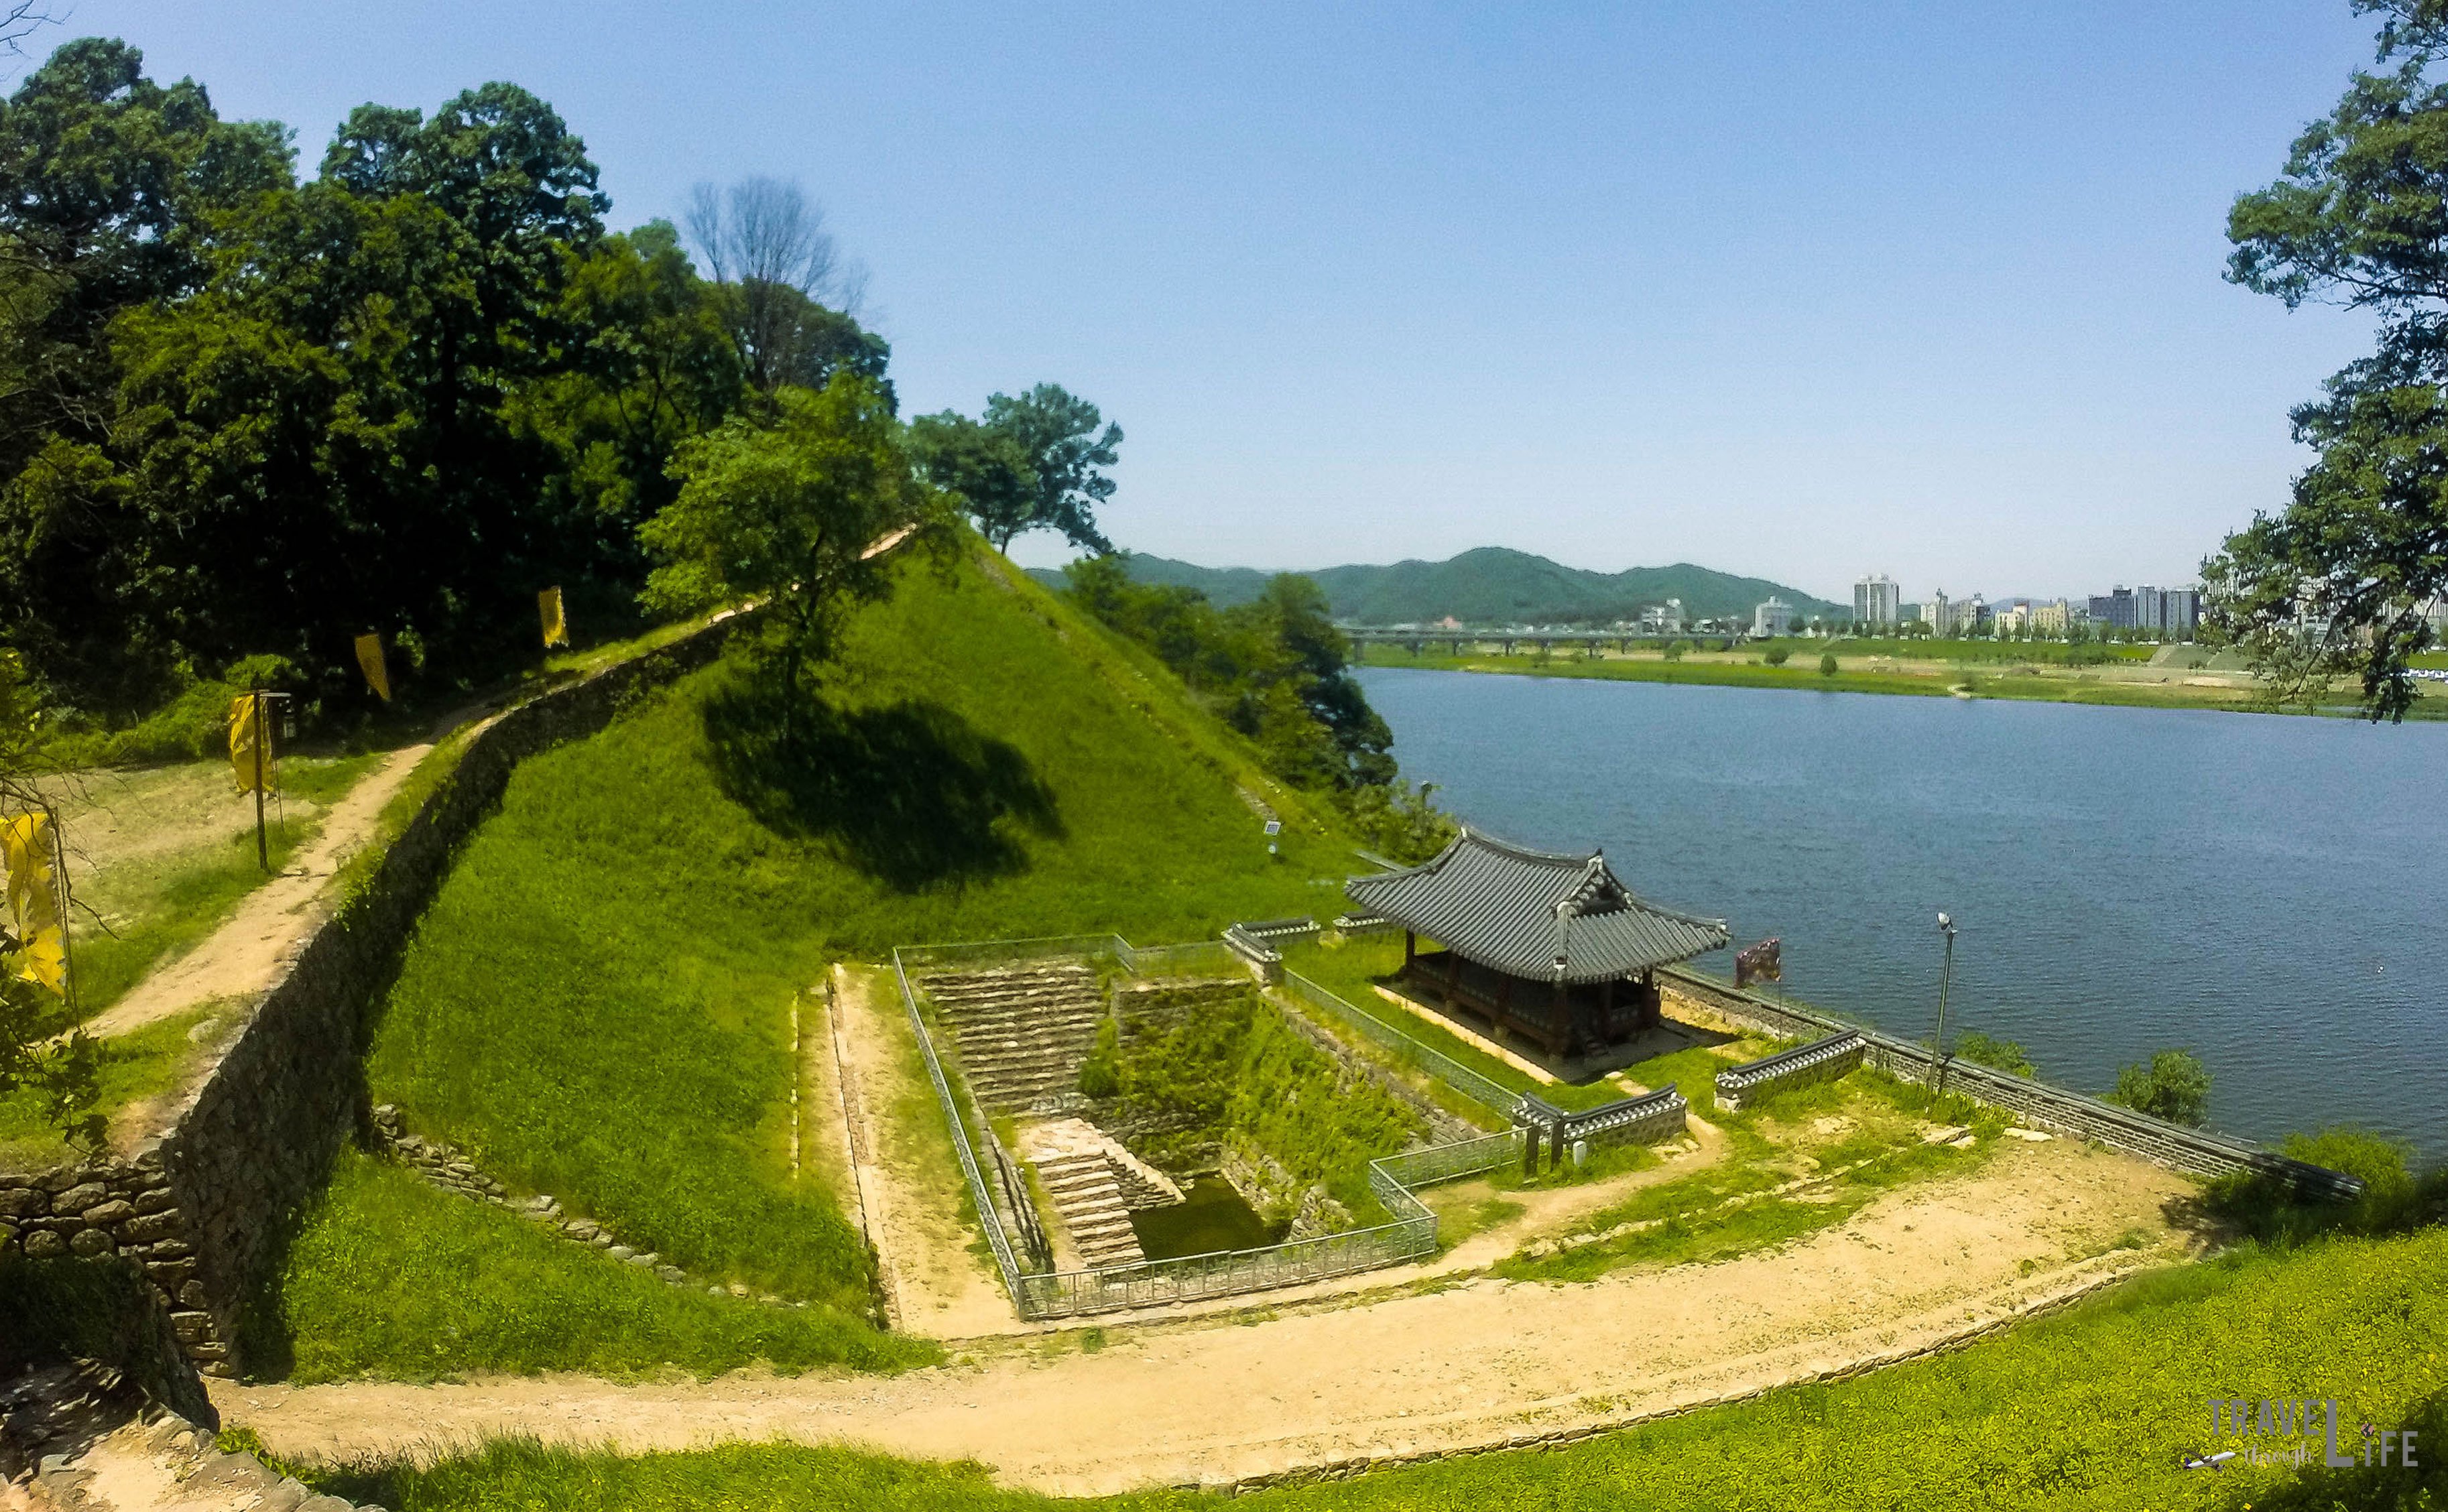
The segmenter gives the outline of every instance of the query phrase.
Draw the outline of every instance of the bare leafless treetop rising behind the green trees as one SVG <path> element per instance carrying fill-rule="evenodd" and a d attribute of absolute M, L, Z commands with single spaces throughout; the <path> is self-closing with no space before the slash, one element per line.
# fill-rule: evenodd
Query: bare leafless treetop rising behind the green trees
<path fill-rule="evenodd" d="M 854 318 L 864 276 L 842 262 L 825 208 L 798 183 L 742 179 L 727 191 L 698 183 L 685 220 L 725 289 L 732 340 L 759 391 L 823 389 L 835 367 L 884 379 L 891 347 Z"/>

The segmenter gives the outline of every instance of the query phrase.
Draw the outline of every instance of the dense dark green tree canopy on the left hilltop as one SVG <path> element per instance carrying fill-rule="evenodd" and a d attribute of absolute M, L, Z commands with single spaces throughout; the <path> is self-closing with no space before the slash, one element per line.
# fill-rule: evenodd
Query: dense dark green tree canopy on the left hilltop
<path fill-rule="evenodd" d="M 468 685 L 534 653 L 541 587 L 632 629 L 681 445 L 835 372 L 889 416 L 889 350 L 805 279 L 752 333 L 607 210 L 514 83 L 360 105 L 299 181 L 137 49 L 54 51 L 0 103 L 0 646 L 113 722 L 247 656 L 348 707 L 365 631 Z"/>

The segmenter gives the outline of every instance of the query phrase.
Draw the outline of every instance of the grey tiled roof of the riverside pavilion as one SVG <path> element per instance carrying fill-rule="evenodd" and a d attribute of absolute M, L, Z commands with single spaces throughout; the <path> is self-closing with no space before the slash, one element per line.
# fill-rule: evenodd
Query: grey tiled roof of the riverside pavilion
<path fill-rule="evenodd" d="M 1354 876 L 1344 893 L 1466 962 L 1532 981 L 1633 976 L 1728 939 L 1723 920 L 1635 898 L 1603 851 L 1530 851 L 1476 829 L 1454 837 L 1435 861 Z"/>

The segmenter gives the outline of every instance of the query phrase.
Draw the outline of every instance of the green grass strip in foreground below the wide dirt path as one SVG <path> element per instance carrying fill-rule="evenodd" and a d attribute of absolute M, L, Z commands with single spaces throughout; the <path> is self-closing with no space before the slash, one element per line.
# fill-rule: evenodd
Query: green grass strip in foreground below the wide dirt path
<path fill-rule="evenodd" d="M 1909 1365 L 1660 1419 L 1554 1451 L 1457 1458 L 1258 1492 L 1251 1512 L 2100 1512 L 2441 1507 L 2448 1500 L 2448 1231 L 2237 1250 L 2162 1270 L 2064 1314 Z M 2208 1397 L 2338 1397 L 2348 1424 L 2421 1424 L 2424 1470 L 2294 1470 L 2181 1453 L 2213 1436 Z M 2289 1441 L 2262 1441 L 2289 1443 Z M 744 1443 L 617 1456 L 492 1443 L 431 1466 L 308 1470 L 394 1512 L 1177 1512 L 1195 1492 L 1053 1500 L 977 1466 Z M 2428 1495 L 2431 1500 L 2419 1500 Z"/>

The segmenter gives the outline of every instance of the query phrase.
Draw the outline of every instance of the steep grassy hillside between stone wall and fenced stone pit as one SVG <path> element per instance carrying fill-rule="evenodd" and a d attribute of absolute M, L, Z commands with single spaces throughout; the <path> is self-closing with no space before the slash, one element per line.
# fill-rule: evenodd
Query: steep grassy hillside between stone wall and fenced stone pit
<path fill-rule="evenodd" d="M 911 565 L 798 717 L 803 756 L 732 653 L 524 763 L 419 925 L 367 1081 L 517 1191 L 818 1306 L 774 1338 L 475 1204 L 409 1221 L 433 1204 L 406 1177 L 343 1169 L 262 1319 L 299 1377 L 908 1358 L 857 1321 L 840 1194 L 788 1172 L 793 993 L 903 942 L 1207 937 L 1361 866 L 1170 675 L 984 553 Z M 1280 810 L 1283 856 L 1236 788 Z"/>

